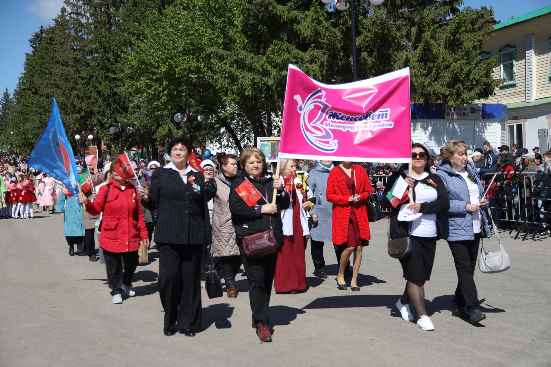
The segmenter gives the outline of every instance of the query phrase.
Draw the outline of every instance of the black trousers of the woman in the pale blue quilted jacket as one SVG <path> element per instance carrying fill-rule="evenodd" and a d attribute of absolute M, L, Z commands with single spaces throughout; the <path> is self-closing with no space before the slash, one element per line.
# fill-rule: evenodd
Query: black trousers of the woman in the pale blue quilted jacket
<path fill-rule="evenodd" d="M 457 288 L 453 296 L 453 308 L 467 306 L 472 312 L 480 308 L 478 304 L 477 286 L 474 284 L 474 270 L 476 269 L 480 233 L 474 235 L 473 240 L 448 241 L 455 270 L 457 271 Z"/>

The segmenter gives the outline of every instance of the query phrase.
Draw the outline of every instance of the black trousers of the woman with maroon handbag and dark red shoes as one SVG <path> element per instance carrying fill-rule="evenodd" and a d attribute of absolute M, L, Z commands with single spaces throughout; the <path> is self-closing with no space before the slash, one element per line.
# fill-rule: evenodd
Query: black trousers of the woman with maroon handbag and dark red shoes
<path fill-rule="evenodd" d="M 249 279 L 249 302 L 251 303 L 252 318 L 263 325 L 270 324 L 270 296 L 272 284 L 276 275 L 278 253 L 262 256 L 257 259 L 247 259 L 245 250 L 238 239 L 237 245 L 241 251 L 241 260 Z"/>

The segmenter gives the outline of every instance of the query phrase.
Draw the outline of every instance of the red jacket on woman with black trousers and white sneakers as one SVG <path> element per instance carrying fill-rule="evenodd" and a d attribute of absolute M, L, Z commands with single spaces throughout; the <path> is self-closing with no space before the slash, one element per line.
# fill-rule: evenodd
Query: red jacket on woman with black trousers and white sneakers
<path fill-rule="evenodd" d="M 105 200 L 107 185 L 109 193 Z M 91 215 L 103 212 L 100 247 L 113 253 L 137 251 L 140 240 L 149 236 L 136 187 L 132 182 L 127 182 L 125 190 L 122 190 L 114 179 L 107 185 L 100 188 L 94 202 L 86 202 L 86 211 Z"/>

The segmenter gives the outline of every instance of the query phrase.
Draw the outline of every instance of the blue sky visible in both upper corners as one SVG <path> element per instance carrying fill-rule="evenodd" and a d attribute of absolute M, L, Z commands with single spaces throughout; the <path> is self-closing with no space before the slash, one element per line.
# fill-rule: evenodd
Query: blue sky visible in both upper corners
<path fill-rule="evenodd" d="M 548 6 L 549 0 L 465 0 L 463 5 L 493 7 L 495 19 L 505 21 Z M 13 93 L 25 52 L 30 52 L 28 39 L 41 24 L 47 26 L 62 6 L 63 0 L 0 0 L 0 93 L 6 87 Z"/>

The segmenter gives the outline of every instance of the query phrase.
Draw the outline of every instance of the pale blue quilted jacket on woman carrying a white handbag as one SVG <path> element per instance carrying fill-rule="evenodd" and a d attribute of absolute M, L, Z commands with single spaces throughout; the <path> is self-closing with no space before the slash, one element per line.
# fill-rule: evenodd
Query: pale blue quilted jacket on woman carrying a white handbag
<path fill-rule="evenodd" d="M 478 185 L 478 195 L 480 198 L 484 195 L 484 186 L 480 176 L 477 174 L 473 162 L 467 162 L 467 167 Z M 442 222 L 442 239 L 448 241 L 466 241 L 474 239 L 473 215 L 467 211 L 467 204 L 471 202 L 467 183 L 449 163 L 438 162 L 436 174 L 442 178 L 450 198 L 450 209 L 440 213 Z M 480 210 L 480 218 L 484 226 L 483 237 L 491 237 L 486 218 L 486 211 Z"/>

